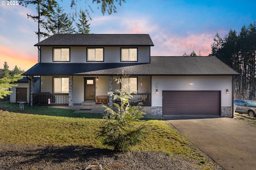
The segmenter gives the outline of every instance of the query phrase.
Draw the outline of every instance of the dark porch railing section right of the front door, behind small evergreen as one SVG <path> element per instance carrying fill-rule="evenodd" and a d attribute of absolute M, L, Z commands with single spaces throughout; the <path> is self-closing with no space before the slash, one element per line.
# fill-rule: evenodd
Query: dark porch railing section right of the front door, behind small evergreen
<path fill-rule="evenodd" d="M 151 106 L 151 94 L 150 93 L 137 93 L 132 94 L 132 99 L 130 99 L 131 105 L 138 105 L 138 103 L 142 102 L 142 106 Z M 113 101 L 114 103 L 120 104 L 120 100 Z"/>

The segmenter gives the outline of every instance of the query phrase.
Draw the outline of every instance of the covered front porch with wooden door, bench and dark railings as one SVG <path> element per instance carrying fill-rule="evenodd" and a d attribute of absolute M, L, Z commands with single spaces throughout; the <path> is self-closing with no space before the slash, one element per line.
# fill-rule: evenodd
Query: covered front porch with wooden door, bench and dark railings
<path fill-rule="evenodd" d="M 114 76 L 40 76 L 40 93 L 34 93 L 33 85 L 30 88 L 30 105 L 33 106 L 68 106 L 82 105 L 83 102 L 95 102 L 97 96 L 108 96 L 107 92 L 119 90 L 120 84 L 113 80 Z M 120 77 L 120 76 L 118 76 Z M 31 83 L 33 77 L 30 76 Z M 150 76 L 132 76 L 131 105 L 151 106 Z M 130 82 L 129 82 L 130 83 Z M 108 106 L 120 101 L 108 96 Z M 93 104 L 90 104 L 93 105 Z"/>

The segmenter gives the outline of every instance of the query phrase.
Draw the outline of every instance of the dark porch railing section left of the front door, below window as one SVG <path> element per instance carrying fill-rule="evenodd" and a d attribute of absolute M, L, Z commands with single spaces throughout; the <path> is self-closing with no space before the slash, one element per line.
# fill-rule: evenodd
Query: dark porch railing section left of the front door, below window
<path fill-rule="evenodd" d="M 33 106 L 68 106 L 68 93 L 33 93 Z"/>

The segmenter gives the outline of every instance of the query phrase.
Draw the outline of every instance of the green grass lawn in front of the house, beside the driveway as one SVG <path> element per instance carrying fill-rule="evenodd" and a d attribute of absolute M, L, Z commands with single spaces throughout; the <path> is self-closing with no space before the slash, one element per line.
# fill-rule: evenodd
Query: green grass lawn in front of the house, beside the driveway
<path fill-rule="evenodd" d="M 24 106 L 24 111 L 19 111 L 19 104 L 0 102 L 0 143 L 106 148 L 96 138 L 98 127 L 104 121 L 102 115 L 73 111 L 37 106 Z M 167 121 L 142 120 L 136 123 L 146 123 L 148 133 L 146 139 L 132 150 L 179 154 L 184 158 L 193 158 L 199 167 L 210 169 L 211 164 L 204 160 L 201 152 Z"/>

